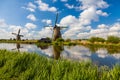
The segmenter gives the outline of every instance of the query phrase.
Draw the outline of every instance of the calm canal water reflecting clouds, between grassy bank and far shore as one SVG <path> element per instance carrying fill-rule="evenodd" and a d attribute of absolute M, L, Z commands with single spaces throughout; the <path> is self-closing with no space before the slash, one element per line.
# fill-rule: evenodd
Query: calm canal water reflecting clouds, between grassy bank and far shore
<path fill-rule="evenodd" d="M 92 48 L 83 45 L 76 46 L 36 46 L 35 44 L 0 43 L 0 49 L 37 53 L 53 59 L 71 61 L 91 61 L 98 66 L 112 67 L 120 64 L 120 49 Z"/>

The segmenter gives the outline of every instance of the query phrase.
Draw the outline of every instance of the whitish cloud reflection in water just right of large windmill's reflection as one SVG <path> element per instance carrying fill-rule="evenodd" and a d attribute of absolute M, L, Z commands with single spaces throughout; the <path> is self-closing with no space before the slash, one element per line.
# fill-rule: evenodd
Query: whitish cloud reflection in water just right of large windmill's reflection
<path fill-rule="evenodd" d="M 91 52 L 88 48 L 84 46 L 72 46 L 64 47 L 64 51 L 61 54 L 61 57 L 70 60 L 77 60 L 77 61 L 88 61 L 90 60 Z"/>

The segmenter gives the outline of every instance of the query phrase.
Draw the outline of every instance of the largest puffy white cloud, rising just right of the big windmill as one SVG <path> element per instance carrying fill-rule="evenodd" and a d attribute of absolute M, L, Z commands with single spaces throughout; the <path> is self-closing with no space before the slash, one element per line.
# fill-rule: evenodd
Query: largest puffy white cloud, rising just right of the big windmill
<path fill-rule="evenodd" d="M 98 16 L 96 14 L 96 10 L 91 7 L 86 10 L 84 10 L 79 18 L 76 18 L 75 16 L 68 15 L 64 17 L 60 24 L 68 25 L 70 28 L 63 34 L 66 38 L 79 38 L 81 32 L 83 31 L 89 31 L 88 25 L 91 24 L 91 21 L 97 21 Z"/>

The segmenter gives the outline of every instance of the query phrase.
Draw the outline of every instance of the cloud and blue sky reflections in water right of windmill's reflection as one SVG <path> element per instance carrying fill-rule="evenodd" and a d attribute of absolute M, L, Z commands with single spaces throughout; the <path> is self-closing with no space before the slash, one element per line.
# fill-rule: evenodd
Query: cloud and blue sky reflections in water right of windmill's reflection
<path fill-rule="evenodd" d="M 120 53 L 109 54 L 105 48 L 100 48 L 93 53 L 85 46 L 74 46 L 70 49 L 66 47 L 62 55 L 70 60 L 92 61 L 93 64 L 98 66 L 112 67 L 115 63 L 120 63 Z"/>

